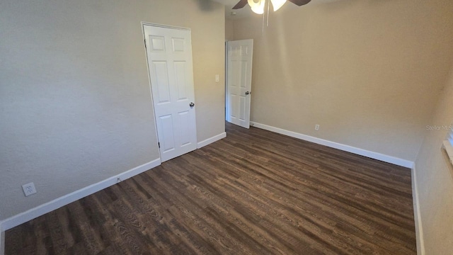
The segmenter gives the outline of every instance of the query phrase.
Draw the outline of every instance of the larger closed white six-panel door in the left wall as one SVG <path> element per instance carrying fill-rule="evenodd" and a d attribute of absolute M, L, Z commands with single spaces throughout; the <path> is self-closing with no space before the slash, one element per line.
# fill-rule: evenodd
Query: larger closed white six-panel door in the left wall
<path fill-rule="evenodd" d="M 197 149 L 190 30 L 144 25 L 161 161 Z"/>

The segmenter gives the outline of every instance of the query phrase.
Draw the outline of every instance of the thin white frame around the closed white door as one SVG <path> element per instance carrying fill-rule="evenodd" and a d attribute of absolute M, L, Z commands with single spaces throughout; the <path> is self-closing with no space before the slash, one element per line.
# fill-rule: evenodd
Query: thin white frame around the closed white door
<path fill-rule="evenodd" d="M 192 34 L 192 30 L 190 28 L 183 28 L 183 27 L 178 27 L 178 26 L 169 26 L 169 25 L 164 25 L 164 24 L 159 24 L 159 23 L 149 23 L 149 22 L 141 22 L 142 26 L 142 43 L 143 43 L 143 49 L 144 49 L 144 56 L 145 59 L 147 60 L 147 73 L 148 73 L 148 86 L 149 86 L 149 96 L 151 99 L 151 105 L 153 109 L 153 115 L 154 115 L 154 130 L 156 130 L 156 144 L 155 146 L 157 147 L 157 150 L 159 151 L 159 162 L 162 162 L 162 154 L 161 154 L 161 148 L 159 146 L 159 134 L 157 132 L 157 120 L 156 120 L 156 108 L 154 108 L 154 99 L 153 99 L 153 91 L 151 88 L 151 74 L 149 73 L 149 59 L 148 59 L 148 52 L 147 52 L 147 44 L 145 40 L 147 40 L 146 35 L 144 33 L 144 26 L 155 26 L 158 28 L 170 28 L 170 29 L 177 29 L 177 30 L 187 30 Z M 194 81 L 194 90 L 195 90 L 195 81 Z M 194 91 L 195 93 L 195 91 Z M 196 117 L 196 115 L 195 115 Z M 196 118 L 195 118 L 196 122 Z M 197 130 L 197 127 L 195 126 L 195 130 Z M 197 139 L 196 139 L 197 140 Z M 198 141 L 198 140 L 197 140 Z"/>

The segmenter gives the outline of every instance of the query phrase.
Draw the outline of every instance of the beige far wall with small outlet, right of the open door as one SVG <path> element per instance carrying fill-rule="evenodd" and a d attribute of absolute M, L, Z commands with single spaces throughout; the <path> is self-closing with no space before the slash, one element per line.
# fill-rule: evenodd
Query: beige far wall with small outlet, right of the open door
<path fill-rule="evenodd" d="M 234 21 L 234 40 L 254 39 L 251 120 L 414 161 L 452 67 L 452 13 L 446 0 L 313 1 L 271 12 L 264 33 L 262 16 Z"/>

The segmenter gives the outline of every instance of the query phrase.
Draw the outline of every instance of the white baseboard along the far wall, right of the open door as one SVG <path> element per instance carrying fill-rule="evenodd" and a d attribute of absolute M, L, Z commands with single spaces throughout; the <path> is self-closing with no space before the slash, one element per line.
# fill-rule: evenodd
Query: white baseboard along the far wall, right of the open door
<path fill-rule="evenodd" d="M 340 150 L 343 150 L 345 152 L 351 152 L 351 153 L 354 153 L 354 154 L 357 154 L 357 155 L 361 155 L 361 156 L 364 156 L 364 157 L 377 159 L 377 160 L 380 160 L 382 162 L 387 162 L 387 163 L 390 163 L 390 164 L 396 164 L 397 166 L 404 166 L 404 167 L 407 167 L 407 168 L 410 168 L 410 169 L 413 168 L 413 162 L 411 162 L 409 160 L 406 160 L 406 159 L 399 159 L 397 157 L 391 157 L 389 155 L 381 154 L 381 153 L 378 153 L 378 152 L 370 152 L 370 151 L 368 151 L 366 149 L 360 149 L 360 148 L 352 147 L 352 146 L 349 146 L 349 145 L 342 145 L 342 144 L 340 144 L 338 142 L 331 142 L 331 141 L 328 141 L 328 140 L 323 140 L 321 138 L 312 137 L 312 136 L 309 136 L 309 135 L 303 135 L 303 134 L 298 133 L 298 132 L 292 132 L 292 131 L 289 131 L 289 130 L 284 130 L 282 128 L 275 128 L 275 127 L 270 126 L 270 125 L 265 125 L 265 124 L 256 123 L 256 122 L 251 122 L 251 123 L 253 124 L 253 127 L 255 127 L 255 128 L 260 128 L 260 129 L 263 129 L 263 130 L 269 130 L 269 131 L 272 131 L 272 132 L 277 132 L 279 134 L 287 135 L 287 136 L 294 137 L 294 138 L 298 138 L 300 140 L 305 140 L 305 141 L 308 141 L 308 142 L 314 142 L 314 143 L 316 143 L 318 145 L 325 145 L 327 147 L 340 149 Z"/>

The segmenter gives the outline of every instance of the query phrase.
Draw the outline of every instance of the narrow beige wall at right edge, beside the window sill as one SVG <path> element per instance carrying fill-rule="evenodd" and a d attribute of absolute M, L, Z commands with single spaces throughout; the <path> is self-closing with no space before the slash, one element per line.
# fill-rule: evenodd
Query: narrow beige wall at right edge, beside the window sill
<path fill-rule="evenodd" d="M 453 72 L 452 72 L 453 74 Z M 453 75 L 428 125 L 453 123 Z M 415 162 L 418 200 L 426 254 L 451 254 L 453 251 L 453 167 L 443 149 L 448 130 L 427 130 Z"/>

